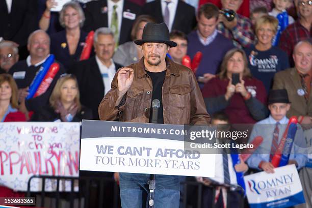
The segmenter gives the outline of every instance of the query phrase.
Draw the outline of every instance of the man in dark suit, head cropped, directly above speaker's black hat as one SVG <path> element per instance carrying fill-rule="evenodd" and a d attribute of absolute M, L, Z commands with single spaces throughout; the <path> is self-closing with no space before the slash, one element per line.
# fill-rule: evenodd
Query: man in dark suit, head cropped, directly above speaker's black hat
<path fill-rule="evenodd" d="M 158 23 L 165 22 L 169 32 L 174 29 L 189 34 L 196 26 L 195 8 L 180 0 L 155 0 L 143 7 Z"/>

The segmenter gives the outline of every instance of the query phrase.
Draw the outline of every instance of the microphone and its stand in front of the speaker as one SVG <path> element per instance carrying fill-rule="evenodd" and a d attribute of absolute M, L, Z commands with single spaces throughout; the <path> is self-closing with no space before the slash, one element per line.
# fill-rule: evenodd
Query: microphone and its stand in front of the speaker
<path fill-rule="evenodd" d="M 158 119 L 158 109 L 160 107 L 160 101 L 158 99 L 154 99 L 152 101 L 152 124 L 157 124 Z M 147 184 L 149 185 L 149 200 L 148 200 L 148 207 L 154 208 L 154 190 L 156 188 L 156 181 L 155 181 L 155 174 L 150 174 L 150 179 L 148 180 Z"/>

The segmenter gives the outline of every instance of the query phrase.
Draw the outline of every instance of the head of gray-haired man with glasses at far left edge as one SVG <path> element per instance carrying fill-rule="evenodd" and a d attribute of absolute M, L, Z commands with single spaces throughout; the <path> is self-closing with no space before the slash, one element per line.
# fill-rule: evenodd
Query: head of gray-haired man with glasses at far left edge
<path fill-rule="evenodd" d="M 18 62 L 18 48 L 13 41 L 0 42 L 0 73 L 8 73 L 10 68 Z"/>

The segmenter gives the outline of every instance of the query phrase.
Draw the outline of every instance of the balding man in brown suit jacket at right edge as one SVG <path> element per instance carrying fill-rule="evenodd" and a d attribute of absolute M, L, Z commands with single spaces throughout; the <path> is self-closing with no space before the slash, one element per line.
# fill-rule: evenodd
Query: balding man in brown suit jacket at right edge
<path fill-rule="evenodd" d="M 312 45 L 300 41 L 294 48 L 295 68 L 275 74 L 273 89 L 287 90 L 292 103 L 287 116 L 299 116 L 302 124 L 312 124 Z"/>

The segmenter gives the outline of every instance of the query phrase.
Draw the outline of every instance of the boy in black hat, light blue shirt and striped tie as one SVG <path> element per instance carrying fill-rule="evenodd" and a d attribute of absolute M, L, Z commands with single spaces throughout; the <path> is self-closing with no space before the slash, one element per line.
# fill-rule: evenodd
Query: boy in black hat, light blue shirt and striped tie
<path fill-rule="evenodd" d="M 274 166 L 271 161 L 289 122 L 286 113 L 289 111 L 291 104 L 287 91 L 285 89 L 271 90 L 268 105 L 270 116 L 256 123 L 248 143 L 256 136 L 262 136 L 264 140 L 254 154 L 248 158 L 247 164 L 251 168 L 274 173 Z M 295 164 L 297 169 L 300 169 L 305 165 L 307 157 L 305 155 L 303 131 L 301 126 L 297 125 L 297 127 L 288 164 Z"/>

